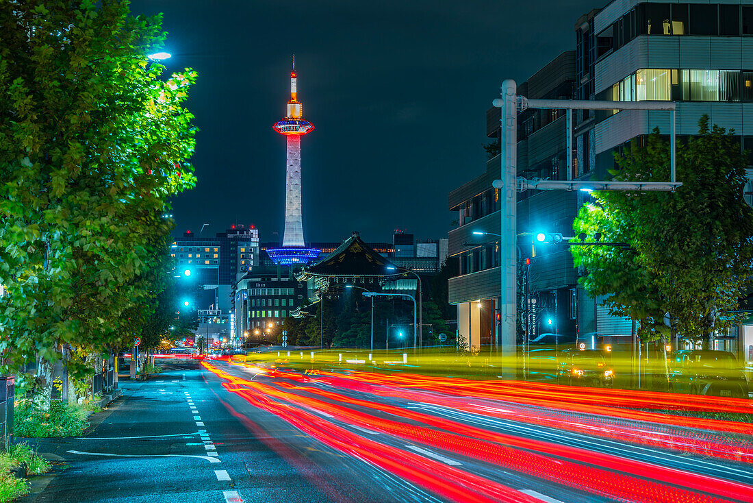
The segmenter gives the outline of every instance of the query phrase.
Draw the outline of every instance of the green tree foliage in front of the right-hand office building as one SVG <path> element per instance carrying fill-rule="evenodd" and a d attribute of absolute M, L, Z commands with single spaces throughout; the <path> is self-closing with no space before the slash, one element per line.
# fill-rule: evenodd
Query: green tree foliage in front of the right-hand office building
<path fill-rule="evenodd" d="M 665 313 L 688 339 L 709 339 L 736 324 L 730 311 L 753 268 L 753 211 L 742 198 L 745 156 L 731 131 L 700 120 L 697 137 L 678 145 L 675 192 L 594 192 L 581 208 L 576 233 L 616 247 L 572 247 L 575 265 L 588 275 L 581 285 L 604 296 L 612 314 L 639 320 L 640 335 L 664 337 Z M 669 180 L 669 147 L 658 133 L 645 147 L 616 157 L 616 179 Z"/>

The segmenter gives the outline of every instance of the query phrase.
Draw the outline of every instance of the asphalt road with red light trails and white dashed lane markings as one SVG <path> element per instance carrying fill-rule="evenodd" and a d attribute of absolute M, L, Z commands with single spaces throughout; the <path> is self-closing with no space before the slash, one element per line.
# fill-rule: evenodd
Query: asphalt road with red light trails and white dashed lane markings
<path fill-rule="evenodd" d="M 541 406 L 224 362 L 121 384 L 86 437 L 38 443 L 69 468 L 26 501 L 753 501 L 749 460 L 534 424 Z"/>

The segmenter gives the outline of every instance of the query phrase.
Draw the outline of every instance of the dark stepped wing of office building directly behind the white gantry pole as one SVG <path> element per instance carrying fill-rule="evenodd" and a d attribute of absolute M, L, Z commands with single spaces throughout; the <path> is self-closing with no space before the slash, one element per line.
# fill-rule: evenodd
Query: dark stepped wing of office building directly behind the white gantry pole
<path fill-rule="evenodd" d="M 519 93 L 536 99 L 572 99 L 575 51 L 566 51 L 520 84 Z M 527 109 L 518 117 L 518 176 L 566 179 L 565 115 L 557 110 Z M 500 111 L 486 113 L 486 135 L 498 141 Z M 450 231 L 449 253 L 458 256 L 460 274 L 450 278 L 449 299 L 458 306 L 462 339 L 478 351 L 492 351 L 498 340 L 500 201 L 492 181 L 500 177 L 500 156 L 486 162 L 486 171 L 450 192 L 449 207 L 458 212 Z M 577 192 L 529 190 L 518 195 L 518 232 L 558 232 L 572 227 Z M 474 235 L 488 233 L 486 235 Z M 520 256 L 535 256 L 527 271 L 532 292 L 529 336 L 549 342 L 575 340 L 577 274 L 565 248 L 538 246 L 519 238 Z M 523 281 L 523 278 L 520 278 Z M 520 311 L 524 311 L 520 306 Z"/>

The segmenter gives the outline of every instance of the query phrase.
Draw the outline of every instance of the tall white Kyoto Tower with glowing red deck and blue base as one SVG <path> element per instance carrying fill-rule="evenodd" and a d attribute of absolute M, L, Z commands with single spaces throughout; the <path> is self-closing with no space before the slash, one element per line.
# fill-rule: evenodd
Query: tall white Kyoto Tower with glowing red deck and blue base
<path fill-rule="evenodd" d="M 303 103 L 297 100 L 295 56 L 293 56 L 293 70 L 290 72 L 288 113 L 273 127 L 278 133 L 285 135 L 288 142 L 285 176 L 285 234 L 282 236 L 282 248 L 267 250 L 267 255 L 278 265 L 306 265 L 319 256 L 319 250 L 306 248 L 306 243 L 303 241 L 303 216 L 300 205 L 300 137 L 314 130 L 314 124 L 303 118 Z"/>

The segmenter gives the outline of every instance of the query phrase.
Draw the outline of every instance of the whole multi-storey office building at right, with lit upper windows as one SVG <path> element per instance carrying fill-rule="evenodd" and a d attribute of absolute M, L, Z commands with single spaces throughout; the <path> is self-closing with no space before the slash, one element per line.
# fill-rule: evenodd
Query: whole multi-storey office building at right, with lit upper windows
<path fill-rule="evenodd" d="M 679 140 L 697 134 L 698 120 L 733 128 L 740 148 L 753 151 L 753 0 L 736 2 L 639 2 L 614 0 L 584 14 L 575 24 L 576 51 L 560 54 L 529 80 L 518 94 L 529 98 L 580 100 L 672 100 L 678 102 Z M 518 176 L 566 179 L 567 155 L 572 176 L 608 179 L 614 152 L 644 142 L 654 127 L 669 133 L 670 114 L 660 111 L 577 111 L 573 152 L 566 150 L 562 111 L 526 110 L 518 116 Z M 498 138 L 500 110 L 487 112 L 487 135 Z M 753 164 L 753 159 L 751 159 Z M 460 275 L 450 279 L 450 302 L 458 305 L 459 332 L 471 345 L 492 347 L 500 288 L 498 238 L 500 157 L 486 172 L 450 192 L 450 210 L 459 227 L 450 232 L 450 255 L 459 256 Z M 745 190 L 751 203 L 753 183 Z M 562 232 L 587 195 L 579 192 L 526 191 L 518 194 L 518 232 Z M 489 232 L 478 236 L 473 232 Z M 527 283 L 529 336 L 540 342 L 578 341 L 589 347 L 629 349 L 630 320 L 611 317 L 577 287 L 578 271 L 566 247 L 532 245 L 518 237 Z M 524 263 L 524 262 L 523 262 Z M 535 305 L 532 305 L 535 303 Z M 526 305 L 520 305 L 525 311 Z M 753 330 L 741 327 L 753 345 Z M 747 339 L 745 339 L 747 340 Z M 716 348 L 742 354 L 748 342 L 737 333 L 721 336 Z M 753 357 L 751 357 L 753 359 Z"/>

